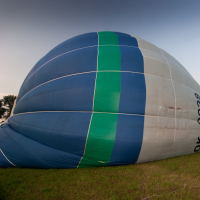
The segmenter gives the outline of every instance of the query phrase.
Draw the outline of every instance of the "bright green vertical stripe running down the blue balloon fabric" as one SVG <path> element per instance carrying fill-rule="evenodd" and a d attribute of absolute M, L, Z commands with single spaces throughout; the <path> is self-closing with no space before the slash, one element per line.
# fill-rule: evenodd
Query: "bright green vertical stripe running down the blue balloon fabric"
<path fill-rule="evenodd" d="M 98 35 L 99 45 L 103 46 L 98 46 L 94 113 L 89 127 L 85 154 L 79 167 L 107 165 L 112 155 L 117 129 L 121 91 L 121 53 L 118 36 L 113 32 L 100 32 Z"/>

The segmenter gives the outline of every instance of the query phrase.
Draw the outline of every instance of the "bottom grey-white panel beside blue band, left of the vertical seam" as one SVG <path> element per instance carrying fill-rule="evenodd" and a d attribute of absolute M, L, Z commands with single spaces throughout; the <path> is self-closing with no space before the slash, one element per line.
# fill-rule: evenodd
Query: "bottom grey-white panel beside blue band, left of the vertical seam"
<path fill-rule="evenodd" d="M 144 135 L 137 163 L 168 158 L 172 152 L 174 129 L 163 126 L 173 119 L 145 116 Z M 173 124 L 173 123 L 172 123 Z"/>

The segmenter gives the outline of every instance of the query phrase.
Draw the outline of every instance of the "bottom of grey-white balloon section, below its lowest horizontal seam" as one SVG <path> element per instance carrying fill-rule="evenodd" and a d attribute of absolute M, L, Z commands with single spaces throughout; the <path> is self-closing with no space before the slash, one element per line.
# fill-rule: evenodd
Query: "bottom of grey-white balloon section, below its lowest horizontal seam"
<path fill-rule="evenodd" d="M 145 116 L 145 134 L 137 163 L 194 153 L 199 136 L 196 120 L 178 120 L 176 134 L 172 121 L 165 117 Z"/>

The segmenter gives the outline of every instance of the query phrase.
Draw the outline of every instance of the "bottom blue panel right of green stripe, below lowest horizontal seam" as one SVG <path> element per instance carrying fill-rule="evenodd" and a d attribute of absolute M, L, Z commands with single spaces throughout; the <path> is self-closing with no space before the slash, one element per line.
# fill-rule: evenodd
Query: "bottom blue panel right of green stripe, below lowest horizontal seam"
<path fill-rule="evenodd" d="M 144 116 L 118 115 L 115 144 L 109 165 L 135 163 L 140 154 Z"/>

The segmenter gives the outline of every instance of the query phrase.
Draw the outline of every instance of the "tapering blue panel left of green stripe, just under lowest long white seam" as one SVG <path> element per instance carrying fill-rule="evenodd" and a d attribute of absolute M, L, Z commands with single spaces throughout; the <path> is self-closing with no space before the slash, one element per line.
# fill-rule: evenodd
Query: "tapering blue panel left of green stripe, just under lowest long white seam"
<path fill-rule="evenodd" d="M 10 126 L 46 146 L 83 156 L 91 113 L 40 112 L 14 115 Z"/>

